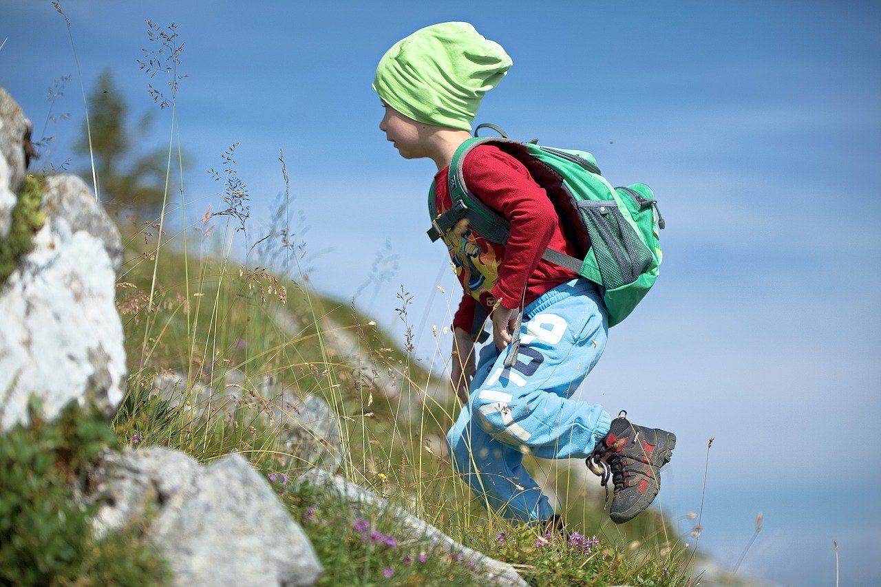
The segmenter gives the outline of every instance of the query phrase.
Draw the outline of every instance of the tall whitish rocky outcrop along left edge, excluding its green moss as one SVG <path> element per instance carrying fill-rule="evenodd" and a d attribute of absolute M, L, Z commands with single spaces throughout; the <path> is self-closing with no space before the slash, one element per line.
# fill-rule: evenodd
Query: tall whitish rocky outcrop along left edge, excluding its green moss
<path fill-rule="evenodd" d="M 0 239 L 10 238 L 25 182 L 30 123 L 0 88 Z M 32 397 L 48 419 L 78 401 L 107 416 L 126 379 L 115 279 L 119 233 L 78 177 L 48 177 L 33 249 L 0 283 L 0 429 L 27 423 Z"/>

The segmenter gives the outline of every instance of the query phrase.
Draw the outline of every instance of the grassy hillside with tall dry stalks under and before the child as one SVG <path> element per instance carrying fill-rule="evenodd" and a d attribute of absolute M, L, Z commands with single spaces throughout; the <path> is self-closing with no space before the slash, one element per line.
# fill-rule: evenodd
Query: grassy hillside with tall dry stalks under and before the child
<path fill-rule="evenodd" d="M 475 502 L 446 456 L 444 434 L 458 410 L 448 384 L 411 360 L 401 348 L 409 340 L 392 341 L 351 304 L 264 269 L 263 264 L 278 265 L 284 257 L 288 266 L 296 266 L 300 257 L 285 245 L 284 234 L 252 249 L 251 258 L 258 260 L 243 266 L 216 244 L 200 241 L 199 234 L 189 236 L 186 248 L 181 234 L 163 234 L 158 248 L 155 227 L 123 230 L 126 260 L 117 303 L 131 375 L 115 434 L 137 448 L 161 444 L 202 462 L 232 450 L 246 455 L 277 485 L 313 539 L 327 569 L 323 584 L 474 580 L 456 561 L 439 561 L 418 545 L 396 544 L 394 528 L 382 520 L 371 521 L 371 527 L 385 540 L 365 539 L 358 531 L 364 521 L 293 489 L 286 480 L 308 464 L 285 453 L 268 423 L 266 405 L 255 392 L 267 382 L 293 397 L 317 394 L 337 412 L 344 439 L 338 458 L 348 479 L 466 546 L 514 564 L 530 583 L 685 581 L 688 552 L 672 529 L 675 524 L 655 512 L 611 524 L 596 478 L 581 462 L 528 461 L 547 492 L 565 504 L 566 537 L 512 525 Z M 402 300 L 404 319 L 405 310 Z M 241 401 L 233 417 L 220 411 L 212 417 L 206 410 L 207 416 L 196 418 L 198 408 L 207 408 L 198 403 L 209 401 L 197 390 L 229 387 L 223 377 L 231 369 L 241 374 L 235 384 Z M 154 378 L 170 372 L 182 380 L 180 405 L 151 391 Z"/>

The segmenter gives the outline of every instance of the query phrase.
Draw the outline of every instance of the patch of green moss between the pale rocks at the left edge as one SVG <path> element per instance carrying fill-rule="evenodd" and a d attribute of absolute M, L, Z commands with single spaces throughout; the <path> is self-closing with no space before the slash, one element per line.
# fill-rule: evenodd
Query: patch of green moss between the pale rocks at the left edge
<path fill-rule="evenodd" d="M 33 250 L 33 234 L 43 227 L 46 214 L 40 205 L 46 193 L 46 182 L 27 175 L 19 200 L 12 209 L 9 234 L 0 238 L 0 287 L 6 283 L 19 257 Z"/>

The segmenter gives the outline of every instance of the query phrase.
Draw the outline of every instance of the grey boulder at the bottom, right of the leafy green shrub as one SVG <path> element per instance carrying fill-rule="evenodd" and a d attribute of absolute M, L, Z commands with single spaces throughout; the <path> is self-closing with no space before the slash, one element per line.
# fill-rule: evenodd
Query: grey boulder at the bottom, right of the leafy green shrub
<path fill-rule="evenodd" d="M 175 585 L 312 585 L 322 575 L 306 534 L 240 455 L 202 467 L 164 448 L 108 453 L 95 477 L 96 530 L 146 514 Z"/>

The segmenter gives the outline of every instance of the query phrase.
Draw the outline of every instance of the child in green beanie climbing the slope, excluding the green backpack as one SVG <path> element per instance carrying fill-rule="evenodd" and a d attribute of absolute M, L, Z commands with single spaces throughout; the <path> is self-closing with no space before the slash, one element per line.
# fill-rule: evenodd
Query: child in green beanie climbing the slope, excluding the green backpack
<path fill-rule="evenodd" d="M 453 154 L 471 137 L 480 100 L 511 64 L 473 26 L 448 22 L 398 41 L 377 66 L 374 89 L 385 108 L 380 130 L 404 159 L 427 157 L 437 165 L 439 213 L 452 205 Z M 443 235 L 464 290 L 453 320 L 451 368 L 464 406 L 447 435 L 455 469 L 503 516 L 559 528 L 522 456 L 585 458 L 603 485 L 611 474 L 610 516 L 626 522 L 655 499 L 676 436 L 570 398 L 606 345 L 603 297 L 589 280 L 542 259 L 548 247 L 572 256 L 574 246 L 519 161 L 494 145 L 478 145 L 462 166 L 470 191 L 511 228 L 505 245 L 462 223 Z M 506 368 L 520 308 L 520 346 Z M 494 344 L 481 349 L 475 366 L 474 343 L 487 316 Z"/>

